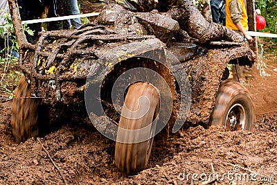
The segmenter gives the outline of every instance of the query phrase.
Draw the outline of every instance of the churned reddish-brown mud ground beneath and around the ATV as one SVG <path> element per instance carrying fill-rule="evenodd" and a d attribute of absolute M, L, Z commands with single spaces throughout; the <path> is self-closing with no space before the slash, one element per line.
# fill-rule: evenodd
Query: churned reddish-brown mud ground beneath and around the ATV
<path fill-rule="evenodd" d="M 201 126 L 181 130 L 166 144 L 154 143 L 148 168 L 132 177 L 116 168 L 115 143 L 86 123 L 64 123 L 39 138 L 42 144 L 38 139 L 16 144 L 10 128 L 10 103 L 1 103 L 0 184 L 64 184 L 62 176 L 67 184 L 190 184 L 188 173 L 215 172 L 222 177 L 235 173 L 234 165 L 240 166 L 235 168 L 238 173 L 249 175 L 249 181 L 226 176 L 217 184 L 262 184 L 260 177 L 277 182 L 277 73 L 273 71 L 277 64 L 267 64 L 270 77 L 260 77 L 256 67 L 247 76 L 247 88 L 256 103 L 255 131 L 225 132 L 223 127 L 204 130 Z M 181 181 L 184 171 L 186 177 Z M 251 181 L 253 173 L 257 176 Z"/>

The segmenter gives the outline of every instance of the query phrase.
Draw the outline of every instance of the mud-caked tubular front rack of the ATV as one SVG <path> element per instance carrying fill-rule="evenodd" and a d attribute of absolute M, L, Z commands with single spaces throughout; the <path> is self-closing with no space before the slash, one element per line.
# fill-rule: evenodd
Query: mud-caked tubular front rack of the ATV
<path fill-rule="evenodd" d="M 84 79 L 87 77 L 87 73 L 73 76 L 62 75 L 62 73 L 70 69 L 73 62 L 77 65 L 84 63 L 85 60 L 97 60 L 102 55 L 102 51 L 107 51 L 108 47 L 105 44 L 118 42 L 123 44 L 151 38 L 154 36 L 119 35 L 105 26 L 96 26 L 95 24 L 84 24 L 78 30 L 73 31 L 57 30 L 40 33 L 35 49 L 33 47 L 24 49 L 25 53 L 21 58 L 20 67 L 22 71 L 32 73 L 32 76 L 39 80 Z M 35 51 L 33 62 L 27 55 L 29 50 Z M 30 67 L 26 61 L 33 65 Z M 76 69 L 76 66 L 74 67 Z"/>

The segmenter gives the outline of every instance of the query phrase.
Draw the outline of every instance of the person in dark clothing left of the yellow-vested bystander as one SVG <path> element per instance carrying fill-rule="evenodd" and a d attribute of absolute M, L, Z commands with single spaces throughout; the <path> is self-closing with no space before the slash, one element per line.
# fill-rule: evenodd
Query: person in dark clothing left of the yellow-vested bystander
<path fill-rule="evenodd" d="M 211 12 L 213 22 L 226 25 L 225 0 L 211 0 Z"/>

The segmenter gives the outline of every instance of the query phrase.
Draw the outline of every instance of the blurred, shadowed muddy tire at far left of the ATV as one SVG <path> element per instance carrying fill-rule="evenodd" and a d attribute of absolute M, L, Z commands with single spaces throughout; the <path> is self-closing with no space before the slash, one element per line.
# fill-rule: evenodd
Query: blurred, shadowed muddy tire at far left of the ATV
<path fill-rule="evenodd" d="M 39 100 L 30 97 L 30 85 L 22 76 L 15 89 L 15 100 L 12 101 L 12 134 L 18 143 L 26 141 L 28 138 L 39 134 L 38 107 Z"/>

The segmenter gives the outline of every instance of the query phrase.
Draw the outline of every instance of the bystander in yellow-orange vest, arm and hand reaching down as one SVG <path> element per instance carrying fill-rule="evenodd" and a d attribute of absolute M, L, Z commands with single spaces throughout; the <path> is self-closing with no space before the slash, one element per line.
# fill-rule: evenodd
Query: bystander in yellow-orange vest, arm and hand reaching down
<path fill-rule="evenodd" d="M 246 0 L 226 0 L 226 27 L 236 30 L 245 41 L 251 42 L 253 39 L 247 34 L 248 17 Z"/>

